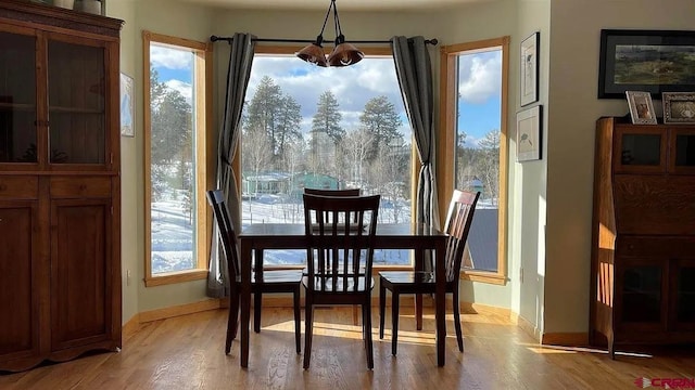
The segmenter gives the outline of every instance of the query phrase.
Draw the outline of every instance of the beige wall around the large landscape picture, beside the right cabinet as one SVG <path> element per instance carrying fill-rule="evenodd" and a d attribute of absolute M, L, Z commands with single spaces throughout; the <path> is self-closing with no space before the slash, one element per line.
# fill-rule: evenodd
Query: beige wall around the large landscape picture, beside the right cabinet
<path fill-rule="evenodd" d="M 545 266 L 551 333 L 587 329 L 595 122 L 628 113 L 624 100 L 596 99 L 602 28 L 694 29 L 695 2 L 552 2 Z"/>

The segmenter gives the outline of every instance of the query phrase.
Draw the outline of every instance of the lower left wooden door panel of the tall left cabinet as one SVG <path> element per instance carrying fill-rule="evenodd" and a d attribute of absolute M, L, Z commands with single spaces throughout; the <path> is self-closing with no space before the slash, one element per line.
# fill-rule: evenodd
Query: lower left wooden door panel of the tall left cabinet
<path fill-rule="evenodd" d="M 38 354 L 37 235 L 37 202 L 0 202 L 0 361 Z"/>

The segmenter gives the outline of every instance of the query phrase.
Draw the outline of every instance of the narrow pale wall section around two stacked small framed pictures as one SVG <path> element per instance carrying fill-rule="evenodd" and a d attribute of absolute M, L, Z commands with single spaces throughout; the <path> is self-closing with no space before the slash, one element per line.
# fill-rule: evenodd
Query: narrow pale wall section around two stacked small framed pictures
<path fill-rule="evenodd" d="M 535 327 L 536 335 L 543 329 L 543 299 L 545 282 L 545 214 L 547 171 L 547 115 L 549 69 L 549 0 L 520 1 L 518 8 L 518 38 L 513 42 L 514 53 L 510 72 L 516 76 L 509 113 L 509 283 L 511 285 L 510 309 Z M 520 107 L 519 103 L 519 46 L 521 40 L 534 31 L 540 32 L 539 49 L 539 102 Z M 541 159 L 516 162 L 516 113 L 542 105 Z"/>

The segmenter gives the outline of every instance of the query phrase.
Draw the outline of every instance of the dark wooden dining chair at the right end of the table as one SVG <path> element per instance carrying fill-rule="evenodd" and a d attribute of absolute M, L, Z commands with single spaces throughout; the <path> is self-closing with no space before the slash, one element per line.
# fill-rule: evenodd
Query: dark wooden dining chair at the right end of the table
<path fill-rule="evenodd" d="M 480 192 L 469 193 L 454 190 L 448 205 L 444 232 L 446 238 L 446 253 L 444 269 L 446 270 L 446 292 L 452 294 L 454 304 L 454 327 L 458 350 L 464 351 L 464 336 L 460 329 L 458 302 L 458 278 L 464 249 L 468 239 L 468 232 L 473 220 L 476 204 Z M 383 339 L 383 323 L 387 302 L 387 290 L 392 294 L 391 302 L 391 353 L 396 354 L 399 339 L 399 297 L 402 294 L 434 294 L 437 290 L 434 272 L 425 271 L 382 271 L 379 272 L 379 339 Z"/>

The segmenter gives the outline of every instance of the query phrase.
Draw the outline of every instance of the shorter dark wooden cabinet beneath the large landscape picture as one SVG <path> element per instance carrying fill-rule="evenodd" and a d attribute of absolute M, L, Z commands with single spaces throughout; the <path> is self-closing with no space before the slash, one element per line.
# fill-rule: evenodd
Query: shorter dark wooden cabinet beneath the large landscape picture
<path fill-rule="evenodd" d="M 695 126 L 597 121 L 592 230 L 592 342 L 695 342 Z"/>

